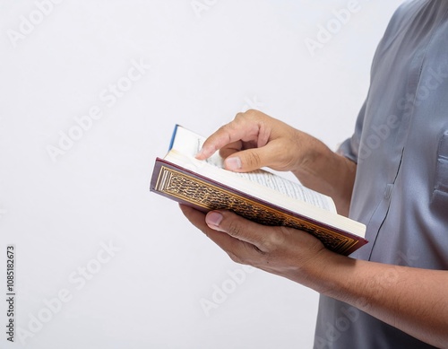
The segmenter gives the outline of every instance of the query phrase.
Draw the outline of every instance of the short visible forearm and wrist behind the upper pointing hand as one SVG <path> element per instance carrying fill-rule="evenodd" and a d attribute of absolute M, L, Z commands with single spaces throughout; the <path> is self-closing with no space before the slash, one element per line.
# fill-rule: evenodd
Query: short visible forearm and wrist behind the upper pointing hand
<path fill-rule="evenodd" d="M 299 145 L 300 146 L 300 145 Z M 357 165 L 311 137 L 306 156 L 292 172 L 307 188 L 331 196 L 339 214 L 348 215 Z"/>

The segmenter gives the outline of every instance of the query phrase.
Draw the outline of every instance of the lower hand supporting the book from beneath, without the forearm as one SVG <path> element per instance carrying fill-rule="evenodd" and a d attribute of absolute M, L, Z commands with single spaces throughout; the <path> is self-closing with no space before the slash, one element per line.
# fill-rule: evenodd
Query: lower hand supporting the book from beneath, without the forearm
<path fill-rule="evenodd" d="M 208 214 L 180 205 L 186 218 L 203 231 L 235 262 L 312 286 L 314 276 L 333 254 L 312 235 L 286 227 L 247 221 L 229 211 Z"/>

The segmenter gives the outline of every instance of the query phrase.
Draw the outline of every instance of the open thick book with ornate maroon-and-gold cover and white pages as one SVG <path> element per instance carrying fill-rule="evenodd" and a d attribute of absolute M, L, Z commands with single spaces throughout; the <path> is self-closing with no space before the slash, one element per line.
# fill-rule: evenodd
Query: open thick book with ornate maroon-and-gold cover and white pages
<path fill-rule="evenodd" d="M 331 197 L 268 169 L 225 170 L 219 152 L 197 160 L 204 141 L 177 125 L 168 153 L 155 160 L 151 191 L 202 212 L 226 209 L 260 224 L 307 231 L 346 256 L 367 243 L 366 226 L 337 214 Z"/>

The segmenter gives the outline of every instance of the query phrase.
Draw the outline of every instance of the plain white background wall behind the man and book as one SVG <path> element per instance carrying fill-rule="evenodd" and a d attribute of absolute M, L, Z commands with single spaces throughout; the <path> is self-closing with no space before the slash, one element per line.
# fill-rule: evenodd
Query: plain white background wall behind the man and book
<path fill-rule="evenodd" d="M 360 0 L 314 56 L 306 38 L 348 1 L 65 0 L 39 17 L 40 3 L 0 2 L 2 328 L 7 244 L 17 292 L 15 342 L 2 329 L 0 348 L 311 348 L 317 293 L 233 263 L 150 192 L 153 161 L 176 123 L 209 135 L 250 107 L 335 149 L 401 1 Z M 105 101 L 133 61 L 151 67 Z M 102 118 L 52 161 L 92 106 Z"/>

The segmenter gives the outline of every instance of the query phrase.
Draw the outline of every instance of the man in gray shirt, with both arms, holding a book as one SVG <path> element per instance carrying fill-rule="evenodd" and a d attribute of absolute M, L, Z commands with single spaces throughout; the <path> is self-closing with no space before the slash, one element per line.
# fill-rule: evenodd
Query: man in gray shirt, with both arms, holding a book
<path fill-rule="evenodd" d="M 369 244 L 343 257 L 303 231 L 181 206 L 236 262 L 321 293 L 314 347 L 448 347 L 448 1 L 394 13 L 338 153 L 256 110 L 211 135 L 197 158 L 218 149 L 228 170 L 291 170 L 367 226 Z"/>

